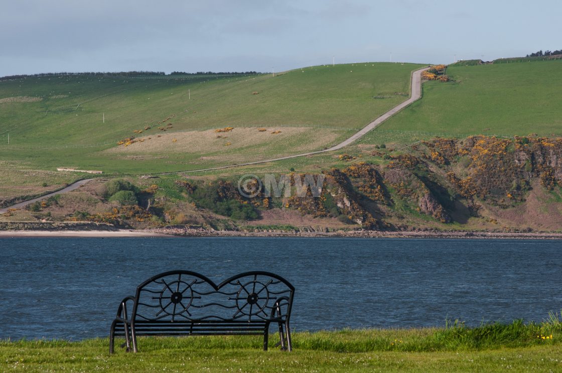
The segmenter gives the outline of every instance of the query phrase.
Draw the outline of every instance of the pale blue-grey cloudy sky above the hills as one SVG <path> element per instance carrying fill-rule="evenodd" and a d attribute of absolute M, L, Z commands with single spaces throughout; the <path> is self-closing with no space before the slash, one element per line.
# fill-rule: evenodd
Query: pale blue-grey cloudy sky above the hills
<path fill-rule="evenodd" d="M 559 0 L 3 0 L 0 76 L 450 63 L 562 49 Z"/>

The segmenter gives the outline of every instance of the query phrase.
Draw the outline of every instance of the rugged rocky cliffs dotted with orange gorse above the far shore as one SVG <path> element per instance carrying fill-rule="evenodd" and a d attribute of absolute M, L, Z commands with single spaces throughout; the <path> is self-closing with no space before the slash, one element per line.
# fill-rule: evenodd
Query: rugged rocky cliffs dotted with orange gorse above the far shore
<path fill-rule="evenodd" d="M 532 195 L 542 190 L 539 188 L 544 188 L 541 201 L 554 201 L 554 197 L 562 195 L 562 138 L 435 138 L 413 144 L 405 151 L 386 149 L 371 156 L 375 157 L 369 158 L 373 163 L 353 161 L 359 160 L 359 154 L 350 158 L 353 163 L 315 175 L 316 181 L 319 176 L 323 178 L 320 195 L 312 195 L 311 190 L 305 195 L 296 193 L 301 185 L 297 181 L 306 180 L 304 174 L 284 175 L 290 181 L 290 186 L 285 187 L 293 193 L 282 197 L 271 196 L 265 189 L 256 189 L 255 198 L 244 197 L 234 179 L 176 180 L 175 187 L 185 195 L 187 202 L 183 203 L 192 204 L 198 213 L 211 209 L 212 203 L 220 207 L 215 214 L 222 216 L 229 216 L 225 211 L 239 206 L 260 211 L 290 209 L 292 213 L 302 213 L 306 219 L 333 217 L 342 224 L 359 228 L 357 224 L 365 230 L 426 229 L 428 219 L 420 214 L 433 218 L 429 224 L 432 227 L 453 220 L 473 224 L 474 217 L 479 219 L 478 226 L 504 229 L 504 225 L 514 226 L 511 225 L 514 219 L 502 221 L 497 211 L 515 210 L 533 202 Z M 257 180 L 252 181 L 252 185 L 258 184 Z M 166 195 L 152 195 L 146 202 L 147 210 L 166 222 L 173 221 L 178 211 L 162 206 L 182 203 Z M 535 202 L 537 206 L 540 201 Z M 560 220 L 562 213 L 558 210 L 562 208 L 558 206 L 562 203 L 556 206 L 548 219 Z M 133 212 L 134 219 L 147 219 L 139 215 L 140 211 Z M 123 213 L 114 215 L 117 219 Z M 197 224 L 211 224 L 219 219 L 220 216 L 213 214 L 201 217 L 201 223 Z M 229 221 L 229 226 L 240 224 L 235 220 Z M 532 220 L 528 216 L 522 218 L 522 222 L 516 223 L 517 229 L 526 228 L 527 223 L 531 226 Z M 312 226 L 298 229 L 305 233 L 319 231 Z"/>

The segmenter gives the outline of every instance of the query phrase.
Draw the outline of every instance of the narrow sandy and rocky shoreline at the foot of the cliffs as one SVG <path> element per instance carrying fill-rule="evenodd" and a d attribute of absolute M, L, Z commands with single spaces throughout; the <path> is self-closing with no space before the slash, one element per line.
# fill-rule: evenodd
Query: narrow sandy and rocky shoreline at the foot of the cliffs
<path fill-rule="evenodd" d="M 296 238 L 444 238 L 444 239 L 551 239 L 562 240 L 562 233 L 502 233 L 485 231 L 224 231 L 192 228 L 146 230 L 0 230 L 1 238 L 15 237 L 296 237 Z"/>

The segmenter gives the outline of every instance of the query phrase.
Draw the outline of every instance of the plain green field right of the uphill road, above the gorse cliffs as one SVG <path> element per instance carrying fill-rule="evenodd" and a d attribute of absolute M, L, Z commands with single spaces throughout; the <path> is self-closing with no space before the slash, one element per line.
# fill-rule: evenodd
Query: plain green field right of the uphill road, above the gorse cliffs
<path fill-rule="evenodd" d="M 562 60 L 452 66 L 446 73 L 454 81 L 424 83 L 423 98 L 380 129 L 457 137 L 562 135 Z"/>

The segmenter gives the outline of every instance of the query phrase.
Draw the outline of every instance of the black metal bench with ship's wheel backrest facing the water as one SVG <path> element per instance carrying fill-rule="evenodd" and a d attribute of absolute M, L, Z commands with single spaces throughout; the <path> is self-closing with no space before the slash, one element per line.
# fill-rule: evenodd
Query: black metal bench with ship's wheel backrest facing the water
<path fill-rule="evenodd" d="M 139 335 L 263 335 L 267 351 L 270 324 L 279 329 L 275 346 L 292 351 L 293 295 L 294 286 L 270 272 L 244 272 L 219 285 L 196 272 L 164 272 L 121 301 L 109 351 L 114 352 L 115 337 L 124 336 L 121 347 L 138 352 Z"/>

